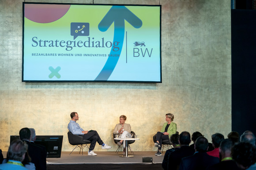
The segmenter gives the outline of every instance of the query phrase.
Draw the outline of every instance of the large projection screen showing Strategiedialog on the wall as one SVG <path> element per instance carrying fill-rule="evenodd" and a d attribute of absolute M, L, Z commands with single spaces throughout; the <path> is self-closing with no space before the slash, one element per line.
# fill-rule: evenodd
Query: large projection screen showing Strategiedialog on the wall
<path fill-rule="evenodd" d="M 23 2 L 22 81 L 162 83 L 161 5 Z"/>

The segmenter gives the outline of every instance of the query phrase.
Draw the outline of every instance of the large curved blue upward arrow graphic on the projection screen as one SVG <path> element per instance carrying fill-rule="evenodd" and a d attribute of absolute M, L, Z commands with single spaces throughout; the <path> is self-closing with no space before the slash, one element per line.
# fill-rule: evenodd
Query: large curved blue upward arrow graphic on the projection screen
<path fill-rule="evenodd" d="M 108 80 L 109 76 L 115 69 L 117 65 L 117 61 L 119 57 L 112 56 L 120 56 L 123 43 L 124 43 L 124 20 L 129 22 L 134 28 L 140 28 L 142 26 L 142 21 L 133 14 L 130 10 L 128 10 L 124 6 L 113 6 L 110 8 L 108 13 L 102 19 L 102 21 L 98 25 L 98 29 L 102 32 L 109 29 L 110 25 L 114 22 L 114 42 L 119 42 L 118 51 L 113 51 L 113 46 L 111 48 L 109 58 L 107 59 L 102 71 L 96 77 L 95 80 Z M 113 44 L 112 43 L 112 44 Z"/>

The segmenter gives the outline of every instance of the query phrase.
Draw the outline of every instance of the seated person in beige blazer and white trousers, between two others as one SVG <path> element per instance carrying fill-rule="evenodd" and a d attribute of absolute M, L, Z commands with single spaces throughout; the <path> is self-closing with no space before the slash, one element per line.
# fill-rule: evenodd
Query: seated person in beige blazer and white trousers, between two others
<path fill-rule="evenodd" d="M 119 117 L 119 123 L 116 125 L 116 127 L 114 128 L 113 134 L 118 134 L 118 137 L 120 138 L 125 138 L 126 136 L 128 137 L 132 137 L 131 135 L 131 126 L 130 124 L 125 123 L 126 121 L 126 116 L 121 115 Z M 123 142 L 123 140 L 117 142 L 118 146 L 121 146 L 123 143 L 123 148 L 124 151 L 123 153 L 125 153 L 125 142 Z"/>

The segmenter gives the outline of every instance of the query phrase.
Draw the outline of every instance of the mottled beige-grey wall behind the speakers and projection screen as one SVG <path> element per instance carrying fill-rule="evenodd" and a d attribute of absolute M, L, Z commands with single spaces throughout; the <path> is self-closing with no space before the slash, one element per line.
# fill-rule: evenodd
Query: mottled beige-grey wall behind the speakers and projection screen
<path fill-rule="evenodd" d="M 152 136 L 165 114 L 177 131 L 211 134 L 231 131 L 230 0 L 26 0 L 84 4 L 162 5 L 162 83 L 22 82 L 22 2 L 0 0 L 0 148 L 10 135 L 33 127 L 38 135 L 64 135 L 79 113 L 81 127 L 97 130 L 114 146 L 112 131 L 127 116 L 140 140 L 135 151 L 154 151 Z M 114 146 L 110 151 L 114 151 Z M 95 151 L 102 151 L 96 145 Z"/>

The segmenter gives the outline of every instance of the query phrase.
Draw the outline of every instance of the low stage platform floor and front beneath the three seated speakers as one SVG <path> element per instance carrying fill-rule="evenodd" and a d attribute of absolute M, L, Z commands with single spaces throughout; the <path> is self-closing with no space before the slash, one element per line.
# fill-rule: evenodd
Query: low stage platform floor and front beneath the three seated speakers
<path fill-rule="evenodd" d="M 95 152 L 97 156 L 88 156 L 87 151 L 82 152 L 61 152 L 60 158 L 47 158 L 47 170 L 74 170 L 74 169 L 101 169 L 101 170 L 162 170 L 162 156 L 155 156 L 155 152 L 128 152 L 128 155 L 134 157 L 124 158 L 123 152 Z M 4 158 L 6 152 L 3 152 Z M 152 163 L 143 163 L 142 157 L 152 157 Z"/>

